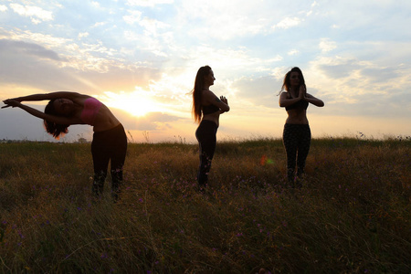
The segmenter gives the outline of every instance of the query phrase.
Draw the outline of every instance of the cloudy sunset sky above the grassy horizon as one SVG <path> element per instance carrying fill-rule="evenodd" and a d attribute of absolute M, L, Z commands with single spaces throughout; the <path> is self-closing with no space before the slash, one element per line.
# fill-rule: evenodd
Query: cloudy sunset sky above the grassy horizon
<path fill-rule="evenodd" d="M 189 92 L 209 65 L 231 107 L 217 139 L 280 138 L 278 94 L 297 66 L 325 102 L 308 109 L 314 138 L 410 136 L 410 15 L 408 0 L 3 0 L 0 99 L 77 91 L 134 142 L 195 142 Z M 22 110 L 1 110 L 0 127 L 0 140 L 51 140 Z M 63 141 L 92 138 L 69 129 Z"/>

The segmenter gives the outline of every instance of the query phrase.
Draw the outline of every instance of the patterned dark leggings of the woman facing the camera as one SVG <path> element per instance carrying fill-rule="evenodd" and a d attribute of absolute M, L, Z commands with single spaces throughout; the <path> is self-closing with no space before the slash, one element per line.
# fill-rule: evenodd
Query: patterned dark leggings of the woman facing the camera
<path fill-rule="evenodd" d="M 286 123 L 282 140 L 287 153 L 287 177 L 290 182 L 293 182 L 296 158 L 297 176 L 300 177 L 304 173 L 305 160 L 307 159 L 311 144 L 310 126 L 308 124 Z"/>

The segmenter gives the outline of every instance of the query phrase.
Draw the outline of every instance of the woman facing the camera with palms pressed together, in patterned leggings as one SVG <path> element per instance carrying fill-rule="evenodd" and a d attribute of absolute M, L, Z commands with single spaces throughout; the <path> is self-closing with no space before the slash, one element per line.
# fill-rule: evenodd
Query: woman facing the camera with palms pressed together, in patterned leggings
<path fill-rule="evenodd" d="M 297 177 L 300 178 L 304 173 L 305 161 L 310 151 L 311 130 L 307 119 L 309 103 L 317 107 L 324 106 L 322 100 L 307 93 L 300 68 L 291 68 L 284 77 L 279 106 L 285 108 L 288 114 L 282 139 L 287 153 L 287 178 L 292 187 L 295 186 L 296 163 Z"/>

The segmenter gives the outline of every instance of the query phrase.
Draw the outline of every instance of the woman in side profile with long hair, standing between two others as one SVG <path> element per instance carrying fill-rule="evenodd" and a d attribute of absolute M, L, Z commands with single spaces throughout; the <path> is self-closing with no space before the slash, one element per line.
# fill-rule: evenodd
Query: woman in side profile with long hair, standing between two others
<path fill-rule="evenodd" d="M 216 151 L 216 132 L 220 114 L 230 110 L 226 97 L 218 98 L 210 90 L 215 80 L 214 72 L 209 66 L 201 67 L 195 76 L 195 87 L 192 90 L 192 114 L 195 122 L 199 123 L 195 137 L 200 151 L 200 166 L 197 174 L 200 188 L 204 188 L 208 181 L 211 161 Z"/>

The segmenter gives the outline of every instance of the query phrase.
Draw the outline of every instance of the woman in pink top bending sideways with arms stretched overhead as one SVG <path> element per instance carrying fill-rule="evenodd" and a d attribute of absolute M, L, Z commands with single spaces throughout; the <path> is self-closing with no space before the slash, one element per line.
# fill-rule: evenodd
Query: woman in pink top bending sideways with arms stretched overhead
<path fill-rule="evenodd" d="M 49 100 L 44 112 L 30 108 L 22 101 Z M 111 195 L 117 199 L 122 182 L 122 167 L 127 151 L 127 136 L 121 122 L 99 100 L 77 92 L 58 91 L 33 94 L 3 101 L 6 107 L 17 107 L 43 119 L 46 131 L 58 139 L 72 124 L 90 124 L 93 127 L 91 154 L 94 165 L 92 192 L 103 191 L 107 168 L 111 161 Z"/>

